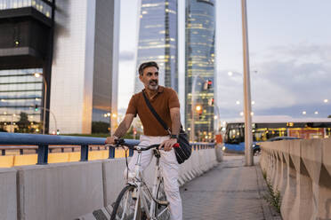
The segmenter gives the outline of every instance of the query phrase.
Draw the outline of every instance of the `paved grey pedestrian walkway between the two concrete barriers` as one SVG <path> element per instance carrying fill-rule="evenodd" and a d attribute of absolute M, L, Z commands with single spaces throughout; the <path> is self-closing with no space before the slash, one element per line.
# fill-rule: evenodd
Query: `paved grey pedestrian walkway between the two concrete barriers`
<path fill-rule="evenodd" d="M 243 156 L 224 156 L 217 167 L 183 185 L 183 219 L 281 219 L 263 199 L 267 191 L 258 160 L 245 167 Z"/>

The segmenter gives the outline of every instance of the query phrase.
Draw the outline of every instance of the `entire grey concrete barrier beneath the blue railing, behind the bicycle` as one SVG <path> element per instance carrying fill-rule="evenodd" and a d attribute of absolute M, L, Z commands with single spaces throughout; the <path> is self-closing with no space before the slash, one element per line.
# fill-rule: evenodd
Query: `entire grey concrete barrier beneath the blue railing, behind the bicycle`
<path fill-rule="evenodd" d="M 148 183 L 154 177 L 153 164 L 155 159 L 144 171 Z M 181 164 L 179 184 L 216 164 L 214 149 L 194 151 Z M 93 219 L 96 212 L 108 217 L 125 185 L 124 170 L 125 158 L 0 169 L 0 219 Z"/>

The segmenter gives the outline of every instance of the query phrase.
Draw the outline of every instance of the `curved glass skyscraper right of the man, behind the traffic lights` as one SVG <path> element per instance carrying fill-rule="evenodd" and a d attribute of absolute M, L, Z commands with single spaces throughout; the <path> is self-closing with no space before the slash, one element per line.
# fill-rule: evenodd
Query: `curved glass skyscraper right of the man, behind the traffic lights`
<path fill-rule="evenodd" d="M 214 130 L 215 1 L 186 0 L 185 10 L 186 129 L 190 133 L 193 114 L 194 137 L 204 141 Z"/>

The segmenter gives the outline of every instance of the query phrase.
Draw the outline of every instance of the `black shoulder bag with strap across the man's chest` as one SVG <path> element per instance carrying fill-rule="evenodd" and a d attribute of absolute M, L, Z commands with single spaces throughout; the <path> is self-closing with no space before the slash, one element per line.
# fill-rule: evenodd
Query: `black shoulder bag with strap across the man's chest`
<path fill-rule="evenodd" d="M 145 98 L 147 106 L 149 106 L 149 110 L 154 116 L 157 118 L 157 121 L 160 122 L 162 127 L 171 135 L 170 129 L 166 125 L 166 123 L 160 118 L 160 116 L 155 111 L 154 107 L 150 105 L 149 98 L 146 97 L 145 92 L 142 91 L 143 98 Z M 176 154 L 176 159 L 179 164 L 190 158 L 190 153 L 192 153 L 192 146 L 190 145 L 189 139 L 185 131 L 182 129 L 179 133 L 179 137 L 177 140 L 179 147 L 174 147 L 174 153 Z"/>

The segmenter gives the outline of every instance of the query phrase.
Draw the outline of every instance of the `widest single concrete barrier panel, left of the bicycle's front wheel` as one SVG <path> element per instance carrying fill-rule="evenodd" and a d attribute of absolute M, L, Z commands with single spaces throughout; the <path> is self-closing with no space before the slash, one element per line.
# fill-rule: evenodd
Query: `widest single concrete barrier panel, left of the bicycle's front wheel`
<path fill-rule="evenodd" d="M 103 207 L 102 162 L 70 162 L 15 168 L 19 219 L 74 219 Z"/>

